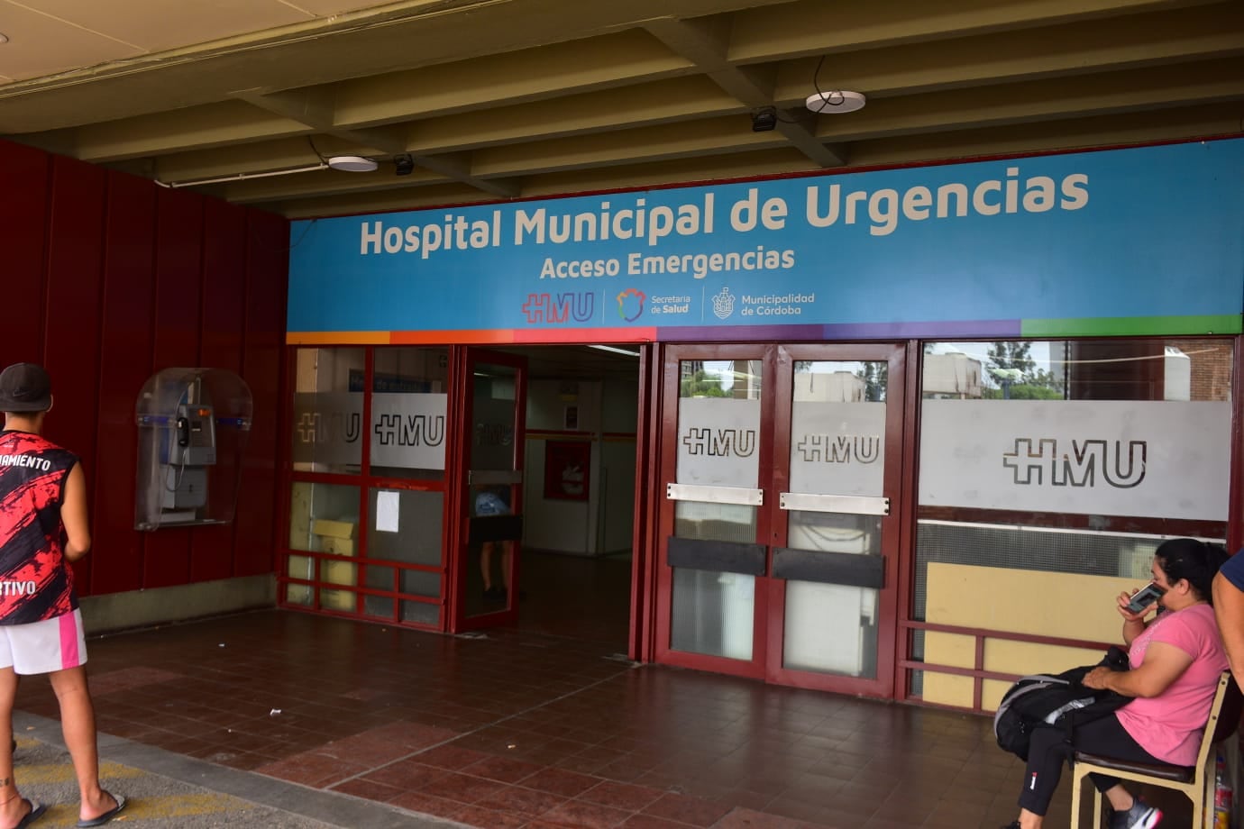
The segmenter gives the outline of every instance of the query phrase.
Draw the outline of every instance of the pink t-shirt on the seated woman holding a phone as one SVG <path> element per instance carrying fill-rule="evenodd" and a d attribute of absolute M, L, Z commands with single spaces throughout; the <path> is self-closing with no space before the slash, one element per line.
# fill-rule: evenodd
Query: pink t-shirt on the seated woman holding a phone
<path fill-rule="evenodd" d="M 1132 669 L 1144 661 L 1149 643 L 1161 641 L 1192 656 L 1192 665 L 1154 697 L 1137 697 L 1115 712 L 1141 747 L 1161 761 L 1192 766 L 1214 703 L 1218 677 L 1227 670 L 1227 653 L 1218 636 L 1214 609 L 1208 604 L 1164 613 L 1132 640 Z"/>

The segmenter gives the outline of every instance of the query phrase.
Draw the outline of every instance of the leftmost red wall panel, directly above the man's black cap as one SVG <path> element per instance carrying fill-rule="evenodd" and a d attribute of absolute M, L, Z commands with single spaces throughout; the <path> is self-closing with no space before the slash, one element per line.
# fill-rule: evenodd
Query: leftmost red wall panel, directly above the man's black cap
<path fill-rule="evenodd" d="M 0 364 L 42 358 L 44 256 L 51 159 L 37 149 L 0 142 L 0 240 L 4 241 L 4 308 Z"/>

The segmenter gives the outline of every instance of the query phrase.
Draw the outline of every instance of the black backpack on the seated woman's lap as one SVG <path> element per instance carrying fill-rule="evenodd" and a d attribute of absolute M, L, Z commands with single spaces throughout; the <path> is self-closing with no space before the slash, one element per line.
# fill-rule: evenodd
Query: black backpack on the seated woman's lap
<path fill-rule="evenodd" d="M 1111 646 L 1097 665 L 1084 665 L 1061 674 L 1021 676 L 1003 695 L 994 713 L 994 737 L 1004 751 L 1028 759 L 1033 730 L 1041 725 L 1057 726 L 1071 740 L 1076 726 L 1105 717 L 1123 707 L 1132 697 L 1115 691 L 1085 687 L 1080 681 L 1095 667 L 1127 670 L 1127 653 Z"/>

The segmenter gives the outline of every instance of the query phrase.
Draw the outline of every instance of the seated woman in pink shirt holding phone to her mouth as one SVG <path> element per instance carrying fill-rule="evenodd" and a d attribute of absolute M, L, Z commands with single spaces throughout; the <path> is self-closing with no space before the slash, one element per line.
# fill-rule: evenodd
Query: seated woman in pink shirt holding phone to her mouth
<path fill-rule="evenodd" d="M 1133 698 L 1113 715 L 1079 726 L 1070 743 L 1061 728 L 1033 732 L 1019 819 L 1005 829 L 1041 825 L 1062 763 L 1074 751 L 1141 763 L 1195 762 L 1218 677 L 1227 670 L 1210 607 L 1214 574 L 1225 561 L 1227 551 L 1217 544 L 1173 538 L 1158 547 L 1151 567 L 1162 598 L 1132 613 L 1127 609 L 1131 597 L 1118 595 L 1131 669 L 1096 667 L 1084 684 Z M 1146 621 L 1154 607 L 1158 614 Z M 1132 797 L 1118 778 L 1090 777 L 1115 809 L 1110 829 L 1152 829 L 1162 820 L 1161 810 Z"/>

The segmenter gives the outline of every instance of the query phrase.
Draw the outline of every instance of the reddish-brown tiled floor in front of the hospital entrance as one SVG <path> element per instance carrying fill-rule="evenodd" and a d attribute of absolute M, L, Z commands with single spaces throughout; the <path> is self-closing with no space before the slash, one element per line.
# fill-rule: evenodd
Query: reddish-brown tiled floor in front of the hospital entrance
<path fill-rule="evenodd" d="M 632 666 L 602 635 L 272 610 L 88 648 L 103 732 L 488 829 L 1014 818 L 1023 769 L 984 717 Z M 19 707 L 55 716 L 46 680 L 24 682 Z M 1067 825 L 1067 789 L 1049 827 Z"/>

